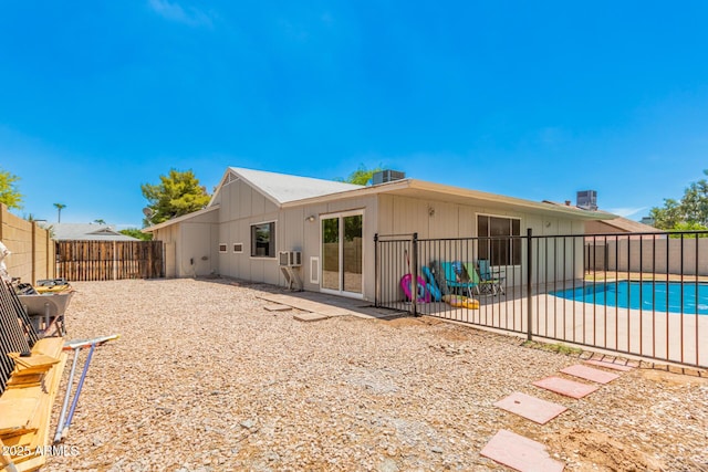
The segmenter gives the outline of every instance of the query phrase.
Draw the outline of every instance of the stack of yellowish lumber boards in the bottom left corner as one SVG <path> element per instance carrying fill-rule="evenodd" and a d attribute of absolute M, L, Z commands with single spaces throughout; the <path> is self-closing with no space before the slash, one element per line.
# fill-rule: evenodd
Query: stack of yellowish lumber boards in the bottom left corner
<path fill-rule="evenodd" d="M 8 353 L 14 370 L 0 396 L 0 471 L 34 471 L 46 462 L 52 406 L 67 354 L 64 338 L 39 339 L 31 352 Z"/>

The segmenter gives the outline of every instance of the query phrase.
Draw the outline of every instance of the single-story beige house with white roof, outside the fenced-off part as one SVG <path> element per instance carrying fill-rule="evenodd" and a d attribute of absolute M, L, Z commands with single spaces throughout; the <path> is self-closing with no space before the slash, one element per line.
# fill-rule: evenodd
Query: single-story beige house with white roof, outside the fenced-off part
<path fill-rule="evenodd" d="M 583 234 L 586 221 L 612 218 L 417 179 L 362 187 L 230 167 L 207 208 L 144 231 L 165 243 L 167 276 L 287 285 L 284 263 L 306 291 L 373 301 L 375 234 Z"/>

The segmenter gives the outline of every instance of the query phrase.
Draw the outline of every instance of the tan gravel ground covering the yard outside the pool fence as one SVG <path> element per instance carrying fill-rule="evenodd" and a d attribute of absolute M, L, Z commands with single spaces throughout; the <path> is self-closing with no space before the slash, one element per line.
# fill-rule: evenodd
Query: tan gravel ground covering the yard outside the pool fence
<path fill-rule="evenodd" d="M 500 429 L 568 471 L 708 471 L 706 378 L 635 369 L 573 400 L 531 382 L 577 354 L 435 318 L 302 323 L 229 280 L 73 285 L 67 337 L 122 336 L 49 471 L 507 470 L 479 455 Z M 539 426 L 492 406 L 514 391 L 569 410 Z"/>

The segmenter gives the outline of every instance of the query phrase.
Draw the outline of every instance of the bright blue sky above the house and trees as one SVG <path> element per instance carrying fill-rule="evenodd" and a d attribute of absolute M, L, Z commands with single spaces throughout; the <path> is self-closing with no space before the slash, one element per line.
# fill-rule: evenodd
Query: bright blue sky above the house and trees
<path fill-rule="evenodd" d="M 139 227 L 142 183 L 360 165 L 639 219 L 708 168 L 708 2 L 0 3 L 18 213 Z"/>

